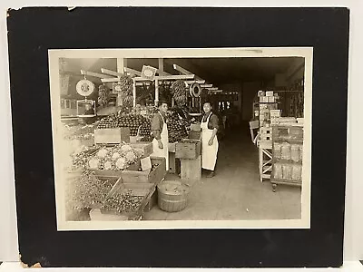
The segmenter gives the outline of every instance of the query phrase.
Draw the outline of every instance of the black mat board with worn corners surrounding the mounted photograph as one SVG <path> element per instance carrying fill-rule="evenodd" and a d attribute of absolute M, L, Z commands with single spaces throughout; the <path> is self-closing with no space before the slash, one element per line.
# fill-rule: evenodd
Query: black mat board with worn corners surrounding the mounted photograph
<path fill-rule="evenodd" d="M 8 11 L 19 251 L 43 267 L 340 267 L 347 8 Z M 313 46 L 310 229 L 56 229 L 48 49 Z"/>

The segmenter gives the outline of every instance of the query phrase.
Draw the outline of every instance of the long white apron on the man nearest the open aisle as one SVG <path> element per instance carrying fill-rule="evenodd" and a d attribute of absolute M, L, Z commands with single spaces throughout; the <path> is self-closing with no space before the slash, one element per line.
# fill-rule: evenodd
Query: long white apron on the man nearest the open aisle
<path fill-rule="evenodd" d="M 213 130 L 208 128 L 211 114 L 208 116 L 207 121 L 201 121 L 201 168 L 206 170 L 214 170 L 218 152 L 217 136 L 214 137 L 212 145 L 208 144 L 213 134 Z"/>

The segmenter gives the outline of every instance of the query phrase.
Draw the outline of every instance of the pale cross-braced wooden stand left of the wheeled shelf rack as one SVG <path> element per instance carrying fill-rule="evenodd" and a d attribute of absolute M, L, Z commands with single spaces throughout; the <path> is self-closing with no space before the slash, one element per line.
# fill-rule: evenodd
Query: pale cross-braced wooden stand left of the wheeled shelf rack
<path fill-rule="evenodd" d="M 260 181 L 270 180 L 272 171 L 272 141 L 258 141 Z"/>

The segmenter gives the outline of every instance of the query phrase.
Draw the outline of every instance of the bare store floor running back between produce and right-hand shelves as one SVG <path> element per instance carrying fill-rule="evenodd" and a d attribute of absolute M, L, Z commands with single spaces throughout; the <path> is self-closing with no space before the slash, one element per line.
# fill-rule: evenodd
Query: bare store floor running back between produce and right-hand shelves
<path fill-rule="evenodd" d="M 216 176 L 191 184 L 186 209 L 168 213 L 154 207 L 144 219 L 299 219 L 301 190 L 280 186 L 273 192 L 269 181 L 260 182 L 258 150 L 249 133 L 242 126 L 221 141 Z"/>

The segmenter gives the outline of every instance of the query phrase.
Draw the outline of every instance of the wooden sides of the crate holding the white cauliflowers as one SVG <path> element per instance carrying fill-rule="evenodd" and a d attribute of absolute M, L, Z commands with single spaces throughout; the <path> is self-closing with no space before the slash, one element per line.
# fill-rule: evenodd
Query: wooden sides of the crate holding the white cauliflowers
<path fill-rule="evenodd" d="M 166 160 L 165 158 L 151 157 L 152 163 L 159 165 L 152 171 L 136 171 L 136 170 L 95 170 L 100 176 L 117 176 L 121 177 L 124 183 L 158 183 L 165 178 Z"/>

